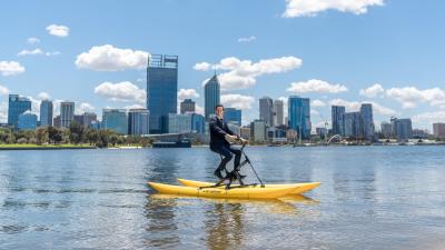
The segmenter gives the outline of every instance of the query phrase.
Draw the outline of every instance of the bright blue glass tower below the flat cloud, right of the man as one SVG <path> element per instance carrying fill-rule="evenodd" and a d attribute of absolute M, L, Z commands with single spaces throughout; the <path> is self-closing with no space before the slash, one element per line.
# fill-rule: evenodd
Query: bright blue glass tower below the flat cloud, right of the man
<path fill-rule="evenodd" d="M 289 128 L 297 131 L 298 139 L 310 137 L 310 100 L 291 96 L 288 99 Z"/>

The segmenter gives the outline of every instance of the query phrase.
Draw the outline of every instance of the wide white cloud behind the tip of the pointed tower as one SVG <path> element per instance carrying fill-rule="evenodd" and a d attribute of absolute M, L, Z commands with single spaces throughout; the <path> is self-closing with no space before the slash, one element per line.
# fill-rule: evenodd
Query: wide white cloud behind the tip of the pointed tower
<path fill-rule="evenodd" d="M 281 73 L 301 66 L 301 59 L 295 57 L 281 57 L 264 59 L 253 63 L 250 60 L 239 60 L 230 57 L 222 59 L 218 64 L 210 67 L 207 62 L 197 63 L 194 68 L 199 70 L 227 70 L 218 76 L 221 90 L 247 89 L 256 83 L 256 78 L 263 74 Z M 205 64 L 207 63 L 207 64 Z"/>

